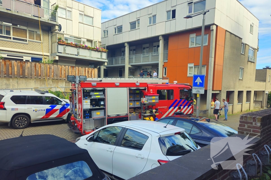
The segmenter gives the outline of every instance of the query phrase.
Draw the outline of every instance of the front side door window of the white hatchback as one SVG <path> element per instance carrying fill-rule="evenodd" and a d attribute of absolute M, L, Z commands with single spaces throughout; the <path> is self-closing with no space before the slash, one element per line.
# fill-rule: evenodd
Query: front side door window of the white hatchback
<path fill-rule="evenodd" d="M 104 128 L 99 132 L 97 138 L 95 139 L 95 142 L 114 145 L 121 129 L 122 127 L 118 126 Z"/>

